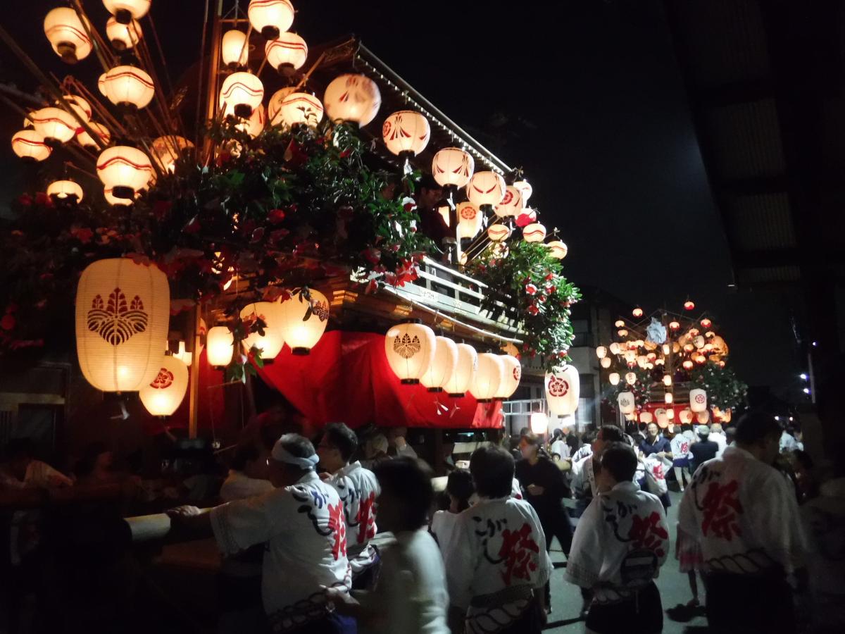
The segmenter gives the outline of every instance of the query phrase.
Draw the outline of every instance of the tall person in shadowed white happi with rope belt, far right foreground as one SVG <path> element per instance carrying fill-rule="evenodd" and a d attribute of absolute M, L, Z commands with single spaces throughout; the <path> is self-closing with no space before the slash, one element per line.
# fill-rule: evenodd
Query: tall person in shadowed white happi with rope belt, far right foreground
<path fill-rule="evenodd" d="M 770 466 L 780 432 L 771 416 L 746 413 L 736 446 L 702 464 L 681 501 L 679 526 L 701 546 L 717 633 L 795 631 L 787 576 L 802 566 L 805 545 L 794 492 Z"/>

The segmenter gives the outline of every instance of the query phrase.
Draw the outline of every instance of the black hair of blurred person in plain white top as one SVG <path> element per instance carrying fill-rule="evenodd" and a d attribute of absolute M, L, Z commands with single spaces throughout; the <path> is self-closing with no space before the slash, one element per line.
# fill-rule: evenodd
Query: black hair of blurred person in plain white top
<path fill-rule="evenodd" d="M 399 456 L 374 467 L 383 492 L 394 495 L 405 506 L 405 529 L 417 530 L 428 523 L 428 511 L 434 501 L 431 467 L 410 456 Z"/>

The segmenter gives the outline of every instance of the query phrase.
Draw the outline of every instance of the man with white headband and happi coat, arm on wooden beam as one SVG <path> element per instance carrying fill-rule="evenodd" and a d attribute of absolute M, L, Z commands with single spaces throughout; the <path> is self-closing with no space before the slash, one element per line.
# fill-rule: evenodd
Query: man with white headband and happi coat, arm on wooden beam
<path fill-rule="evenodd" d="M 326 598 L 326 588 L 347 593 L 352 585 L 340 496 L 314 471 L 319 458 L 303 436 L 283 435 L 268 462 L 275 487 L 269 493 L 207 513 L 180 506 L 169 515 L 213 533 L 224 555 L 266 544 L 261 594 L 270 631 L 354 632 L 354 622 L 336 615 Z"/>

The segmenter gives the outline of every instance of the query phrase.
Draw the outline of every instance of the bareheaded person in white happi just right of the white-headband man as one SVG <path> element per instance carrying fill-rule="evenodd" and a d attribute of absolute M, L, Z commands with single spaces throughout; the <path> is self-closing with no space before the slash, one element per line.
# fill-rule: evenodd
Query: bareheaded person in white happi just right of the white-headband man
<path fill-rule="evenodd" d="M 355 432 L 343 423 L 330 423 L 317 445 L 320 477 L 337 490 L 346 517 L 346 557 L 352 567 L 352 588 L 368 588 L 374 581 L 379 554 L 370 540 L 376 531 L 379 481 L 361 462 L 349 462 L 358 447 Z"/>

